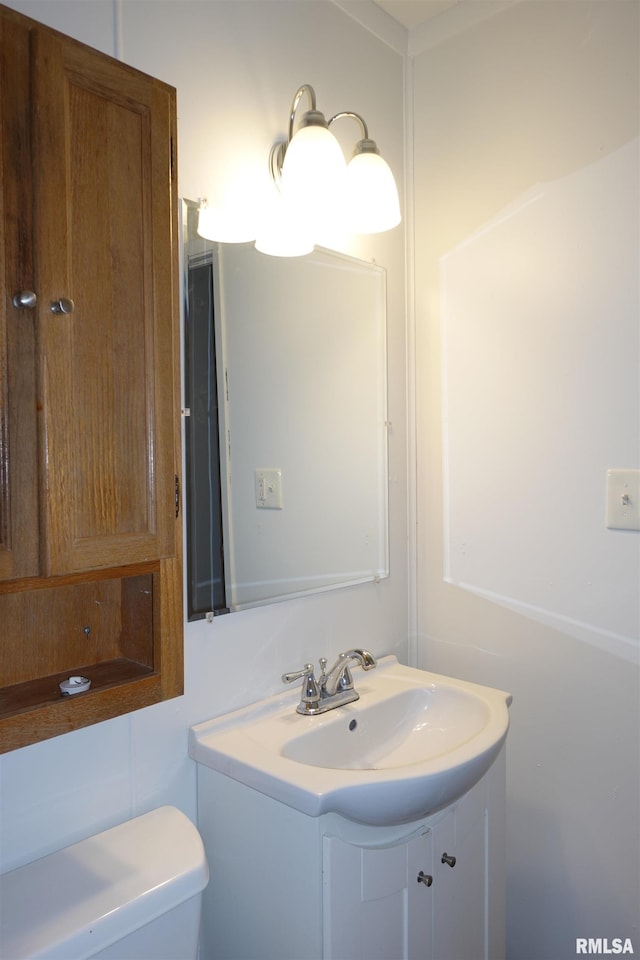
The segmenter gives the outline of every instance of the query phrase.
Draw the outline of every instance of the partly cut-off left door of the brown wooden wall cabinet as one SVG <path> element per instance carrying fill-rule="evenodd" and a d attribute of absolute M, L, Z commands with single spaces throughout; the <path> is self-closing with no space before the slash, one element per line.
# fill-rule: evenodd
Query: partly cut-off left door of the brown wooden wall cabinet
<path fill-rule="evenodd" d="M 0 13 L 0 580 L 39 572 L 29 30 Z"/>

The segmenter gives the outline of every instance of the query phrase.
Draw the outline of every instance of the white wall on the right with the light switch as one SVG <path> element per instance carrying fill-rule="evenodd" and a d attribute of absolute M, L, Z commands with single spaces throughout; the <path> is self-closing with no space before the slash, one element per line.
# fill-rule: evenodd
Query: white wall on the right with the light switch
<path fill-rule="evenodd" d="M 412 45 L 421 666 L 510 690 L 508 956 L 638 932 L 635 2 L 461 4 Z"/>

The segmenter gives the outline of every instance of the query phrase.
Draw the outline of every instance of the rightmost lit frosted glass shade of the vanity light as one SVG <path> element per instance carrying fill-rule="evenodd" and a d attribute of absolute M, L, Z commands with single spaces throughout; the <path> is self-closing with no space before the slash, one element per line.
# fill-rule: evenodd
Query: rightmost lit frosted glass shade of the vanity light
<path fill-rule="evenodd" d="M 398 188 L 379 153 L 357 153 L 345 177 L 348 227 L 354 233 L 383 233 L 401 220 Z"/>

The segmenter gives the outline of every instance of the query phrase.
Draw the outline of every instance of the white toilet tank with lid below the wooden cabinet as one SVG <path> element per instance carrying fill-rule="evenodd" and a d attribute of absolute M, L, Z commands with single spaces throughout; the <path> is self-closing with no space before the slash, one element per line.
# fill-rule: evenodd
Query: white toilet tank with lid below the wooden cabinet
<path fill-rule="evenodd" d="M 209 870 L 160 807 L 0 876 L 3 960 L 195 960 Z"/>

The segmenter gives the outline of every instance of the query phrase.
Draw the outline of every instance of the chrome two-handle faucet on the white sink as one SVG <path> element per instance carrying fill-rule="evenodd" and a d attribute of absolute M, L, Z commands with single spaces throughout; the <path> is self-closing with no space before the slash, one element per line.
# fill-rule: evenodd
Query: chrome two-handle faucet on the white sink
<path fill-rule="evenodd" d="M 349 669 L 353 661 L 363 670 L 371 670 L 376 665 L 375 657 L 368 650 L 347 650 L 340 654 L 328 673 L 326 669 L 328 660 L 326 657 L 321 657 L 322 673 L 317 680 L 312 663 L 305 663 L 302 670 L 294 673 L 283 673 L 283 683 L 293 683 L 294 680 L 303 678 L 302 696 L 296 707 L 297 712 L 305 716 L 314 716 L 359 700 L 360 694 L 353 686 L 353 677 Z"/>

